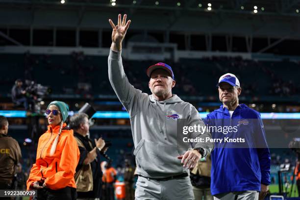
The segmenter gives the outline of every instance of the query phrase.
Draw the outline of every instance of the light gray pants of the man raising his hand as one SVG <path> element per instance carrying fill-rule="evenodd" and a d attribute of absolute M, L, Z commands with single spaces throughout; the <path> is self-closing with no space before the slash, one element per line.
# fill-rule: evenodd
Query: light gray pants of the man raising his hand
<path fill-rule="evenodd" d="M 139 176 L 135 200 L 194 200 L 190 177 L 157 181 Z"/>

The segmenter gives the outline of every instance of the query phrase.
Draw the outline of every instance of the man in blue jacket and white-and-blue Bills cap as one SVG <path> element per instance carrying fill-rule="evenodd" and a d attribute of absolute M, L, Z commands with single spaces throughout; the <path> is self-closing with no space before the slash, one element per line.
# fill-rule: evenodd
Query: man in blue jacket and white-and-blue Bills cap
<path fill-rule="evenodd" d="M 211 153 L 211 194 L 215 200 L 263 199 L 270 184 L 271 158 L 260 114 L 239 104 L 242 89 L 235 75 L 222 75 L 217 87 L 223 105 L 204 120 L 208 127 L 223 128 L 210 130 L 218 138 Z"/>

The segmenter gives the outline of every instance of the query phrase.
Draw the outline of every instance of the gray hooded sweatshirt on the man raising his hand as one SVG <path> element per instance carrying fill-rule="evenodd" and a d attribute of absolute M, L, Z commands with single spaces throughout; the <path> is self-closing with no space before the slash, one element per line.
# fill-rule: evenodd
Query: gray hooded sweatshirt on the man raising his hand
<path fill-rule="evenodd" d="M 157 101 L 152 95 L 135 89 L 128 81 L 122 64 L 121 51 L 110 50 L 108 76 L 119 100 L 130 116 L 137 174 L 146 177 L 168 177 L 188 173 L 179 155 L 192 148 L 202 148 L 204 156 L 213 150 L 213 143 L 184 143 L 185 136 L 177 131 L 177 122 L 184 125 L 203 125 L 196 108 L 177 95 Z M 179 121 L 168 117 L 177 114 Z M 211 137 L 209 132 L 192 132 L 189 138 Z M 205 139 L 204 139 L 205 140 Z"/>

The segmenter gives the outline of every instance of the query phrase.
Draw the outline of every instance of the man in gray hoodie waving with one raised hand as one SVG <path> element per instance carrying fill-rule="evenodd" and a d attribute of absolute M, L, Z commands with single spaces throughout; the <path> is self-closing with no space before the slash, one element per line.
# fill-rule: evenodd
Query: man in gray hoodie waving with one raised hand
<path fill-rule="evenodd" d="M 193 105 L 172 94 L 175 78 L 169 65 L 157 63 L 148 68 L 152 95 L 142 93 L 129 83 L 123 69 L 121 50 L 130 22 L 126 23 L 126 15 L 121 22 L 121 14 L 118 25 L 109 19 L 113 32 L 108 75 L 114 91 L 130 115 L 136 173 L 139 175 L 135 199 L 193 200 L 189 169 L 213 150 L 213 143 L 183 142 L 184 135 L 177 131 L 178 124 L 205 125 Z M 211 134 L 192 131 L 188 137 L 204 139 L 211 138 Z"/>

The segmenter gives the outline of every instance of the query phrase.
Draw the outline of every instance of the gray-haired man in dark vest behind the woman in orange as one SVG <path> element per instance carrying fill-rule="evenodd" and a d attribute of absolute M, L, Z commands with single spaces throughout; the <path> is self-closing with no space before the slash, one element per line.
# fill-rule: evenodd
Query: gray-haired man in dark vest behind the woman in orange
<path fill-rule="evenodd" d="M 88 138 L 88 115 L 78 113 L 70 118 L 70 128 L 74 129 L 80 158 L 76 167 L 75 182 L 78 200 L 99 200 L 102 188 L 100 151 L 105 152 L 105 142 L 101 138 L 92 141 Z"/>

